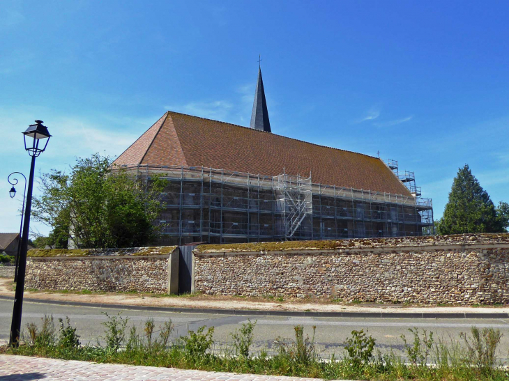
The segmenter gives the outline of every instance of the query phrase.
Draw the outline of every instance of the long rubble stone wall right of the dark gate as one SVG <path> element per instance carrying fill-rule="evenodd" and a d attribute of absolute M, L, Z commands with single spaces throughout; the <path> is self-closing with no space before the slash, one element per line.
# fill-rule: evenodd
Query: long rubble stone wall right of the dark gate
<path fill-rule="evenodd" d="M 203 245 L 195 290 L 423 304 L 509 303 L 509 234 Z"/>

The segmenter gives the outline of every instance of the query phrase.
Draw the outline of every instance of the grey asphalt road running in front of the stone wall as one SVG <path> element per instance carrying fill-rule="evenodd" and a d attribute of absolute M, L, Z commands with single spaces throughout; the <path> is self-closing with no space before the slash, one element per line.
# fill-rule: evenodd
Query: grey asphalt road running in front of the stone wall
<path fill-rule="evenodd" d="M 13 303 L 0 300 L 0 342 L 8 340 L 10 320 L 13 311 Z M 121 312 L 121 316 L 128 317 L 128 327 L 135 325 L 142 330 L 147 318 L 153 318 L 156 327 L 167 320 L 172 320 L 175 325 L 173 338 L 185 335 L 189 329 L 196 330 L 198 327 L 215 327 L 214 341 L 215 350 L 231 341 L 229 334 L 241 327 L 241 323 L 248 319 L 257 320 L 254 329 L 254 345 L 252 350 L 256 352 L 264 348 L 268 352 L 275 349 L 273 342 L 276 338 L 291 339 L 294 337 L 294 326 L 303 325 L 305 334 L 312 336 L 312 327 L 316 326 L 314 341 L 322 356 L 328 357 L 335 353 L 343 352 L 343 343 L 351 336 L 353 329 L 364 329 L 377 341 L 377 347 L 381 351 L 391 348 L 402 355 L 403 342 L 401 334 L 411 336 L 408 331 L 411 327 L 418 327 L 421 331 L 432 331 L 435 337 L 446 341 L 461 341 L 460 332 L 469 332 L 471 327 L 492 327 L 500 329 L 503 337 L 500 345 L 499 357 L 507 359 L 509 354 L 509 319 L 389 319 L 389 318 L 292 318 L 292 317 L 263 317 L 254 316 L 228 316 L 206 313 L 168 313 L 153 311 L 135 311 L 119 309 L 98 309 L 93 307 L 61 306 L 56 304 L 39 304 L 25 302 L 23 306 L 22 327 L 29 322 L 40 325 L 41 318 L 52 315 L 55 325 L 58 318 L 68 316 L 72 325 L 77 327 L 77 333 L 81 336 L 82 343 L 102 342 L 100 336 L 104 334 L 105 327 L 102 325 L 107 320 L 104 313 L 110 316 Z M 129 328 L 128 328 L 129 329 Z"/>

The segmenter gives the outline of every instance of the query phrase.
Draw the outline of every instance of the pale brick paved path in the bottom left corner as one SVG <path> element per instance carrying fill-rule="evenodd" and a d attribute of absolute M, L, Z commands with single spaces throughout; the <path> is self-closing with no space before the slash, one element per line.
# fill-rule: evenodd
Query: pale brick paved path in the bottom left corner
<path fill-rule="evenodd" d="M 175 368 L 94 364 L 86 361 L 65 361 L 0 355 L 0 381 L 317 381 L 269 375 L 239 375 L 206 371 L 183 371 Z"/>

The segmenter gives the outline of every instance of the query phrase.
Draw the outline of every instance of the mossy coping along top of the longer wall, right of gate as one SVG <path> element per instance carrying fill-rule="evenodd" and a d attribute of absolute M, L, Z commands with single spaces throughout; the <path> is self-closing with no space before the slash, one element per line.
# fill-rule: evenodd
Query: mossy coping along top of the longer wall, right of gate
<path fill-rule="evenodd" d="M 395 238 L 353 238 L 349 240 L 320 240 L 320 241 L 287 241 L 287 242 L 250 242 L 243 244 L 202 244 L 195 248 L 194 254 L 259 254 L 276 251 L 307 252 L 320 250 L 321 252 L 338 250 L 353 251 L 359 249 L 394 247 L 395 249 L 412 249 L 416 247 L 478 246 L 500 247 L 509 244 L 509 233 L 478 233 L 457 235 L 424 235 L 420 237 Z"/>

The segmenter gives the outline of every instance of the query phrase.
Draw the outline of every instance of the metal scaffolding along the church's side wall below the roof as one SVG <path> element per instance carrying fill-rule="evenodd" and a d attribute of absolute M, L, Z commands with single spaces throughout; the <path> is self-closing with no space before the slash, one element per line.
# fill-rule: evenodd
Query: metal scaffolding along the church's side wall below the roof
<path fill-rule="evenodd" d="M 146 182 L 168 182 L 155 224 L 160 244 L 235 243 L 423 235 L 431 199 L 191 166 L 124 166 Z M 415 178 L 414 178 L 415 179 Z"/>

